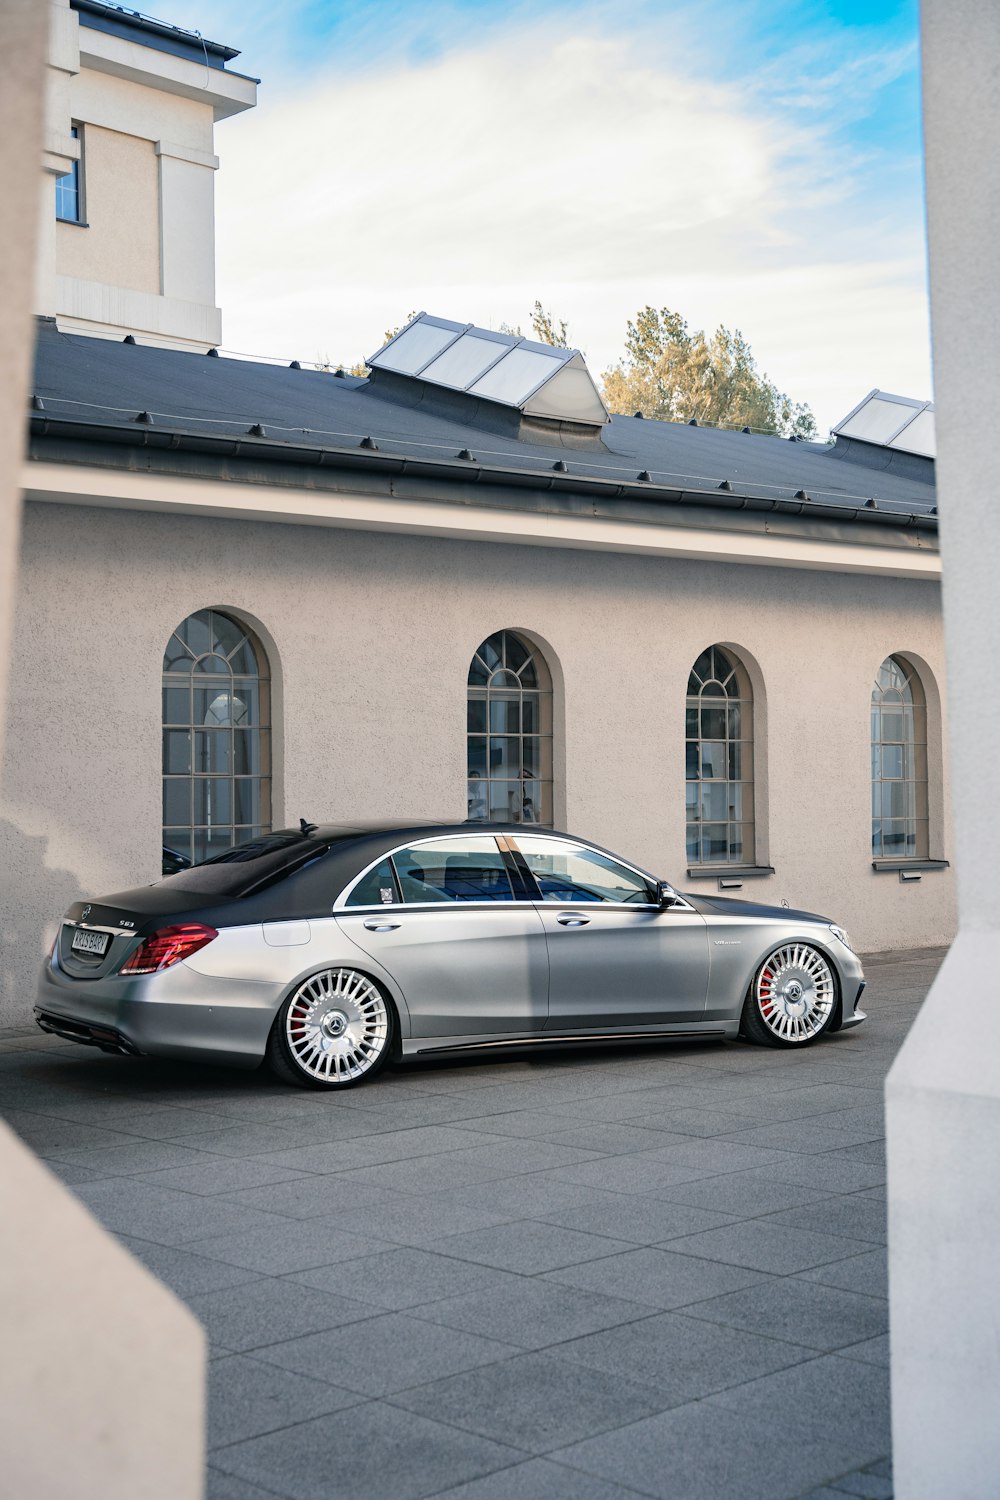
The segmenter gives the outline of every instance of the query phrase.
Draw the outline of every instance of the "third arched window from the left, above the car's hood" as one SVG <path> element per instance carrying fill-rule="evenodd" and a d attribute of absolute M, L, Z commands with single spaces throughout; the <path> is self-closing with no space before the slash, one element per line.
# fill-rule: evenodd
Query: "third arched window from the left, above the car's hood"
<path fill-rule="evenodd" d="M 690 864 L 754 862 L 753 690 L 721 646 L 688 678 L 687 850 Z"/>

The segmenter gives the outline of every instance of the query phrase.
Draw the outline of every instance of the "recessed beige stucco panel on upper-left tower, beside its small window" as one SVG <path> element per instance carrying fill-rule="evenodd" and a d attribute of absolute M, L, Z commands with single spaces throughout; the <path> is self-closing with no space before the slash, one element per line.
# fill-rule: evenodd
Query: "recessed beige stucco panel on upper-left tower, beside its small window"
<path fill-rule="evenodd" d="M 81 129 L 87 224 L 55 225 L 55 270 L 159 292 L 159 160 L 153 142 L 97 124 Z"/>

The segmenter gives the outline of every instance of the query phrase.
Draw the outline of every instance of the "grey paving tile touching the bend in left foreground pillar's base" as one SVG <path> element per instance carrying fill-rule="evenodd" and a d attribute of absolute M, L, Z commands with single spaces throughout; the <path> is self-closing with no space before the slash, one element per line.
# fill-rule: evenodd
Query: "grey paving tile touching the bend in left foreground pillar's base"
<path fill-rule="evenodd" d="M 274 1276 L 190 1296 L 187 1306 L 204 1323 L 213 1344 L 247 1353 L 304 1334 L 375 1317 L 367 1302 L 304 1288 Z"/>

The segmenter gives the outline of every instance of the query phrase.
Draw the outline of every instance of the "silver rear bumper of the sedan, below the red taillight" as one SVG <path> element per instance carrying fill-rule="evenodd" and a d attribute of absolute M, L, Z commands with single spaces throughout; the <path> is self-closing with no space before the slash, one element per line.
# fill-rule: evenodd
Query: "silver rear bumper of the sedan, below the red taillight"
<path fill-rule="evenodd" d="M 279 984 L 220 980 L 184 963 L 162 974 L 75 980 L 42 969 L 42 1030 L 103 1052 L 255 1068 L 282 1000 Z"/>

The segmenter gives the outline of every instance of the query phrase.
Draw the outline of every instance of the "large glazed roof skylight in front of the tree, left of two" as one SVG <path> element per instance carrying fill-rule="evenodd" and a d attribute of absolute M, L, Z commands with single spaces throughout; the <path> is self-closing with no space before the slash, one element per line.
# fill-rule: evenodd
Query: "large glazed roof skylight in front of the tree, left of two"
<path fill-rule="evenodd" d="M 601 428 L 610 417 L 579 350 L 558 350 L 514 333 L 450 322 L 426 312 L 369 360 L 472 399 L 517 408 L 543 422 Z"/>

